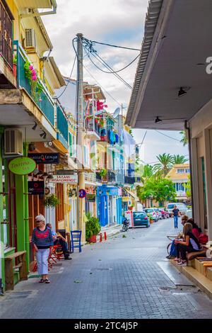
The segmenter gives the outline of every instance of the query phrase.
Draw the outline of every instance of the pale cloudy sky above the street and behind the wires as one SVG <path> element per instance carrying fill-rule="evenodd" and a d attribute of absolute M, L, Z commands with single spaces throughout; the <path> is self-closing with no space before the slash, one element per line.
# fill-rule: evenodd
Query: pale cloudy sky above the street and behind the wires
<path fill-rule="evenodd" d="M 72 40 L 77 33 L 83 33 L 88 40 L 141 49 L 147 7 L 148 0 L 57 0 L 57 14 L 42 16 L 42 21 L 54 46 L 52 55 L 61 73 L 66 77 L 71 74 L 75 57 Z M 115 70 L 122 69 L 139 55 L 139 52 L 134 50 L 97 44 L 94 47 L 98 55 Z M 94 61 L 101 67 L 96 60 Z M 86 67 L 83 72 L 84 81 L 88 81 L 89 84 L 100 84 L 102 89 L 105 89 L 103 91 L 107 97 L 107 110 L 113 112 L 123 104 L 126 112 L 131 89 L 113 74 L 100 72 L 87 56 L 84 57 L 83 63 Z M 136 64 L 135 61 L 119 72 L 119 75 L 131 86 L 134 84 Z M 76 67 L 71 78 L 76 79 Z M 142 142 L 145 132 L 145 130 L 133 130 L 137 143 Z M 163 131 L 163 133 L 174 137 L 175 140 L 148 130 L 141 146 L 143 162 L 155 162 L 156 156 L 163 152 L 188 154 L 187 147 L 183 147 L 179 142 L 181 139 L 179 132 Z"/>

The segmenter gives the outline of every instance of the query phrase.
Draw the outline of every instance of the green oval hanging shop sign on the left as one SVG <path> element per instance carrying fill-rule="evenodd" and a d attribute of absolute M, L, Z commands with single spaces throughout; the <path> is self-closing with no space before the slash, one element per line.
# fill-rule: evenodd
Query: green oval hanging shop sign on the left
<path fill-rule="evenodd" d="M 30 174 L 35 170 L 36 163 L 29 157 L 17 157 L 9 162 L 8 168 L 13 174 Z"/>

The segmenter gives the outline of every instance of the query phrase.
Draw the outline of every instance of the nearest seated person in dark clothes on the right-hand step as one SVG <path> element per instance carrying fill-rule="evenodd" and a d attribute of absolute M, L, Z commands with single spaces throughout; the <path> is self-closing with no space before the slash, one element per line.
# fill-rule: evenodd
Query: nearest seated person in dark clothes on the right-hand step
<path fill-rule="evenodd" d="M 178 265 L 180 266 L 187 266 L 187 252 L 199 252 L 201 250 L 199 240 L 192 233 L 192 228 L 191 223 L 185 223 L 183 227 L 184 240 L 175 239 Z"/>

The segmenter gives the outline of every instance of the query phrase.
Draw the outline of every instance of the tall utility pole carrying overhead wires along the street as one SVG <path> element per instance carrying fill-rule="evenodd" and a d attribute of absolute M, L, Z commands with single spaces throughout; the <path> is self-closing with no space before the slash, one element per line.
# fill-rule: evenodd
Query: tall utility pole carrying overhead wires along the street
<path fill-rule="evenodd" d="M 78 171 L 78 191 L 85 189 L 85 173 L 84 169 L 84 108 L 83 108 L 83 34 L 77 34 L 77 158 L 80 162 L 80 170 Z M 77 192 L 78 192 L 77 191 Z M 78 228 L 82 231 L 82 242 L 86 242 L 86 224 L 84 215 L 86 213 L 85 198 L 79 198 L 77 193 L 78 212 L 77 221 Z"/>

